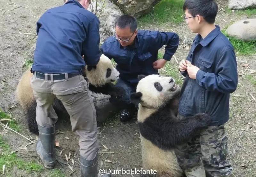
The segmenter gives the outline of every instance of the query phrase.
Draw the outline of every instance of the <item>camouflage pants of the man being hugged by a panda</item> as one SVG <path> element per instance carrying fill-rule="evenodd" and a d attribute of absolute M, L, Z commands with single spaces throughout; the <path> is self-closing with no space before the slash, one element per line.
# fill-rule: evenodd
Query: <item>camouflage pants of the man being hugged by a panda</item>
<path fill-rule="evenodd" d="M 224 125 L 209 126 L 202 130 L 175 150 L 180 167 L 191 171 L 203 162 L 205 171 L 212 176 L 229 176 L 232 166 L 227 160 L 227 140 Z"/>

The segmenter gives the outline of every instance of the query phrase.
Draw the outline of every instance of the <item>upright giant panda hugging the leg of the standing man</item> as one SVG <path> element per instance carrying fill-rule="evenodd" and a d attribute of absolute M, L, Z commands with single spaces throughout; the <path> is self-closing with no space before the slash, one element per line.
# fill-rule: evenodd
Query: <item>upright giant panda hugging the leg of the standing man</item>
<path fill-rule="evenodd" d="M 184 176 L 175 147 L 206 128 L 210 117 L 207 114 L 188 118 L 178 115 L 180 87 L 172 77 L 139 75 L 138 78 L 136 93 L 132 93 L 131 101 L 139 104 L 143 169 L 156 170 L 156 176 Z"/>

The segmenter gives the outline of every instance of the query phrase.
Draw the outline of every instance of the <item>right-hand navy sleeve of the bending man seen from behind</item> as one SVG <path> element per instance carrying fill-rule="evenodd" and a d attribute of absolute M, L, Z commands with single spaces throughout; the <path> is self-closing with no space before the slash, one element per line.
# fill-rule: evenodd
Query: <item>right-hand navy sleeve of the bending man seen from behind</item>
<path fill-rule="evenodd" d="M 86 39 L 83 42 L 82 54 L 86 65 L 95 66 L 98 64 L 101 56 L 100 51 L 100 21 L 97 17 L 92 19 L 86 29 Z"/>

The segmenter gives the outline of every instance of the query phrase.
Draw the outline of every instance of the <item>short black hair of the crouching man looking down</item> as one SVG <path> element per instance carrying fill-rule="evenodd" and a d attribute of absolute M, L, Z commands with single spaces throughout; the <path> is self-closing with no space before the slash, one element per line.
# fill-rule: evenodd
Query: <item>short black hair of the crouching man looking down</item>
<path fill-rule="evenodd" d="M 120 28 L 130 27 L 131 32 L 134 32 L 137 29 L 137 20 L 131 15 L 121 15 L 116 20 L 116 26 Z"/>

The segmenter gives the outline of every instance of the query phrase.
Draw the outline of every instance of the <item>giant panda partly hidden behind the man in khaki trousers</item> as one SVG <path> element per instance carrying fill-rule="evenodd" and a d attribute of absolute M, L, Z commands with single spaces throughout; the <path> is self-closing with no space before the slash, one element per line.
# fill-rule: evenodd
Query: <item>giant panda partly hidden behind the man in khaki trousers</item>
<path fill-rule="evenodd" d="M 111 60 L 105 55 L 101 55 L 96 66 L 87 66 L 82 72 L 84 77 L 89 81 L 89 90 L 94 93 L 108 94 L 111 97 L 122 97 L 124 89 L 116 87 L 112 82 L 119 78 L 119 72 L 113 66 Z M 27 113 L 28 129 L 30 132 L 38 135 L 38 127 L 36 123 L 36 98 L 30 86 L 30 79 L 33 73 L 27 70 L 21 77 L 16 89 L 16 99 L 21 107 Z M 53 109 L 60 119 L 69 119 L 68 112 L 61 103 L 55 98 Z"/>

